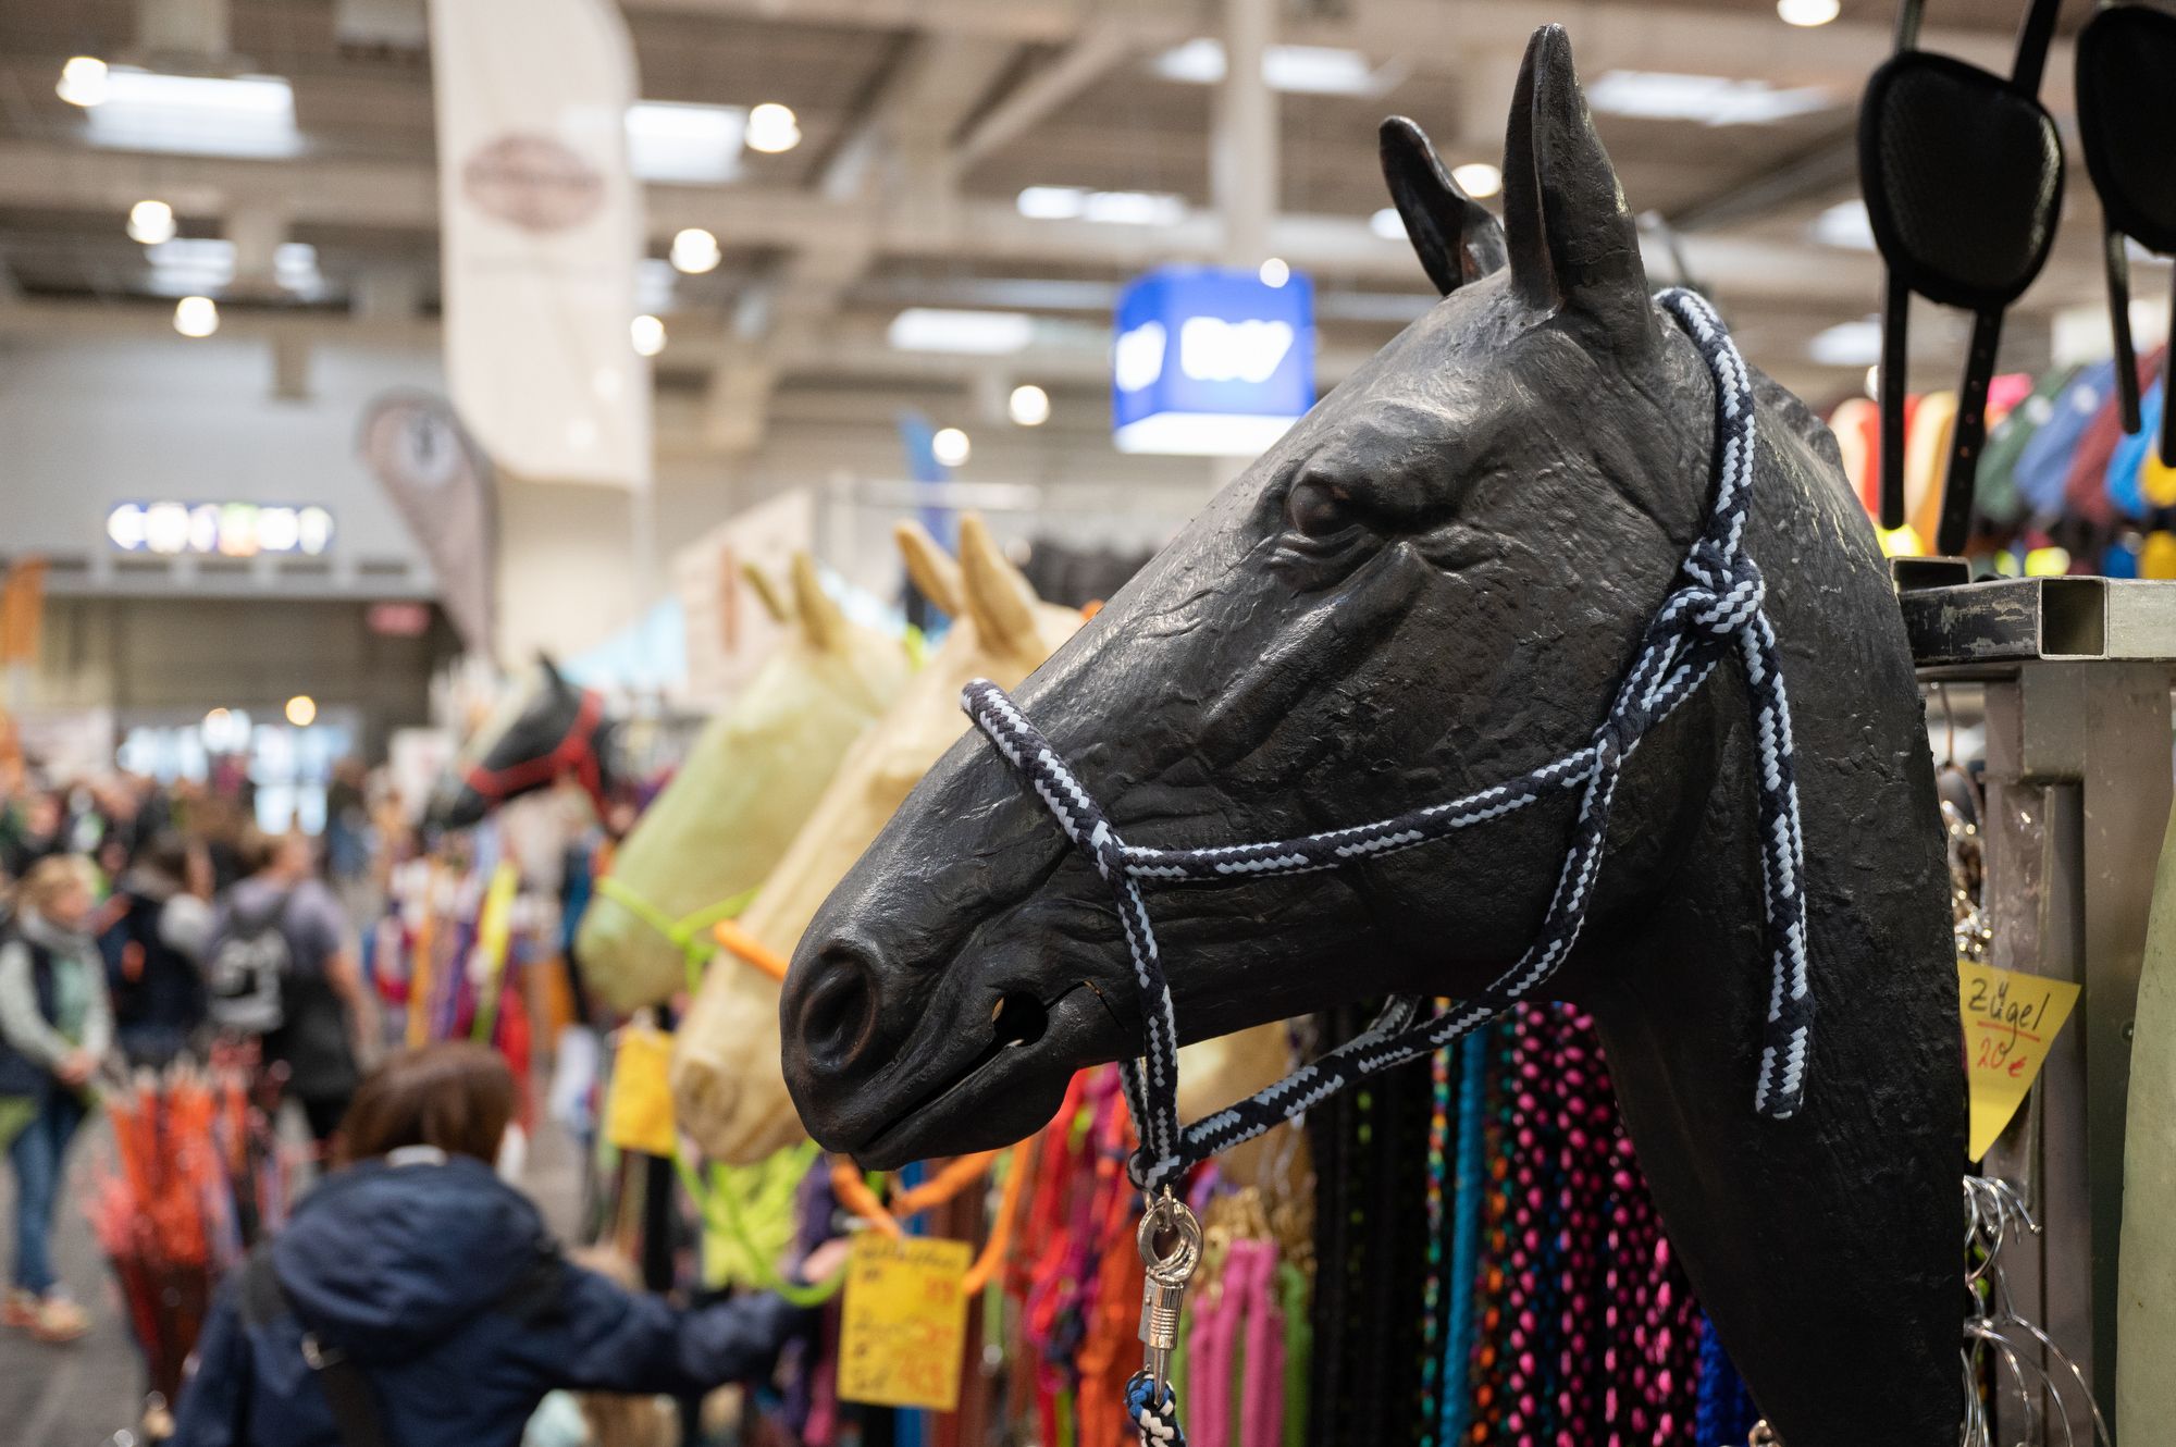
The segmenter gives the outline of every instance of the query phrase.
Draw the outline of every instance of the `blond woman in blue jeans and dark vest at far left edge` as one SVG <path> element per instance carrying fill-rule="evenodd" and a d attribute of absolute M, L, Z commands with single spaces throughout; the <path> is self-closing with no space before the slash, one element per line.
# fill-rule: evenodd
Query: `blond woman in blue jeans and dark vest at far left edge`
<path fill-rule="evenodd" d="M 30 866 L 0 938 L 0 1138 L 15 1168 L 15 1277 L 0 1325 L 67 1343 L 91 1319 L 52 1269 L 52 1214 L 91 1077 L 113 1044 L 107 968 L 91 940 L 98 875 L 81 855 Z"/>

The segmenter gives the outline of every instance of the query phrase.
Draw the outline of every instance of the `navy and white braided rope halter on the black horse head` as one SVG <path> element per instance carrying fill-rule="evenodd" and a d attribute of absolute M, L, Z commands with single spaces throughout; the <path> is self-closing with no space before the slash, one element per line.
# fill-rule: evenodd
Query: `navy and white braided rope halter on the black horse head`
<path fill-rule="evenodd" d="M 1145 1018 L 1142 1055 L 1127 1062 L 1123 1071 L 1140 1127 L 1134 1179 L 1149 1195 L 1173 1184 L 1188 1166 L 1216 1151 L 1251 1140 L 1369 1075 L 1417 1060 L 1464 1036 L 1549 979 L 1580 938 L 1595 877 L 1602 873 L 1610 801 L 1625 759 L 1654 725 L 1669 718 L 1715 672 L 1732 644 L 1745 664 L 1754 742 L 1760 755 L 1760 866 L 1773 964 L 1754 1110 L 1786 1121 L 1804 1101 L 1813 994 L 1806 988 L 1804 844 L 1791 764 L 1791 705 L 1776 655 L 1776 631 L 1763 609 L 1760 568 L 1743 551 L 1754 477 L 1752 381 L 1721 318 L 1704 298 L 1673 287 L 1656 300 L 1693 339 L 1715 376 L 1715 503 L 1699 542 L 1693 544 L 1678 570 L 1678 585 L 1647 624 L 1641 651 L 1617 688 L 1608 718 L 1586 744 L 1565 757 L 1508 783 L 1373 825 L 1269 844 L 1151 849 L 1118 838 L 1095 796 L 1081 788 L 1049 740 L 1027 722 L 1027 716 L 1001 688 L 988 679 L 966 685 L 962 703 L 968 716 L 1049 805 L 1058 827 L 1095 862 L 1097 873 L 1110 881 L 1116 894 Z M 1192 883 L 1336 868 L 1353 859 L 1414 849 L 1573 790 L 1580 794 L 1580 814 L 1541 933 L 1525 955 L 1486 990 L 1432 1018 L 1423 1018 L 1421 997 L 1393 997 L 1353 1040 L 1286 1075 L 1260 1094 L 1206 1121 L 1179 1127 L 1179 1029 L 1171 1010 L 1164 964 L 1155 951 L 1155 929 L 1142 901 L 1142 881 Z"/>

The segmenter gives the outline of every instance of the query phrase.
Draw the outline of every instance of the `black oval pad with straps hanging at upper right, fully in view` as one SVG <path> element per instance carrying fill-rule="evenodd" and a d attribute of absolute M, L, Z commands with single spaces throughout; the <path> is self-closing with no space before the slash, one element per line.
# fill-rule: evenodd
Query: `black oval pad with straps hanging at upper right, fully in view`
<path fill-rule="evenodd" d="M 1897 52 L 1858 107 L 1858 178 L 1882 289 L 1882 527 L 1904 524 L 1904 346 L 1911 294 L 1974 313 L 1943 477 L 1939 553 L 1958 553 L 1987 440 L 2002 311 L 2048 261 L 2063 209 L 2063 139 L 2039 102 L 2058 0 L 2032 0 L 2008 78 L 1917 48 L 1924 0 L 1897 11 Z"/>

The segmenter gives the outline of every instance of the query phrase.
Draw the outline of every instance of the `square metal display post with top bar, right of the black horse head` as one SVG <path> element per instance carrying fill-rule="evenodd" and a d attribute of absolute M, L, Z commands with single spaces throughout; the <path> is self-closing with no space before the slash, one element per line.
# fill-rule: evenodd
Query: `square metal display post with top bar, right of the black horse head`
<path fill-rule="evenodd" d="M 2130 1025 L 2169 820 L 2176 583 L 1906 585 L 1900 603 L 1921 681 L 1985 696 L 1991 964 L 2085 986 L 1985 1171 L 2017 1186 L 2043 1227 L 2004 1247 L 2017 1312 L 2072 1356 L 2113 1419 Z M 2045 1406 L 2039 1443 L 2069 1440 Z M 2011 1386 L 1998 1419 L 2002 1440 L 2019 1440 Z"/>

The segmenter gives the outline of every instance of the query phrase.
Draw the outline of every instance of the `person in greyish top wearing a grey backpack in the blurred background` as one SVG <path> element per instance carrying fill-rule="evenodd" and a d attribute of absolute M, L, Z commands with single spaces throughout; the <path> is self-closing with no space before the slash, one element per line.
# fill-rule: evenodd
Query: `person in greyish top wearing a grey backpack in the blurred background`
<path fill-rule="evenodd" d="M 287 1066 L 287 1094 L 309 1134 L 331 1142 L 359 1079 L 370 1003 L 339 901 L 318 879 L 305 833 L 255 838 L 252 873 L 220 903 L 205 975 L 211 1025 L 257 1038 L 265 1064 Z"/>

